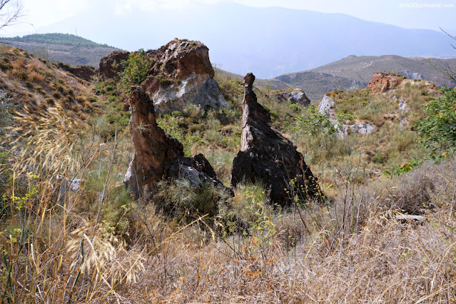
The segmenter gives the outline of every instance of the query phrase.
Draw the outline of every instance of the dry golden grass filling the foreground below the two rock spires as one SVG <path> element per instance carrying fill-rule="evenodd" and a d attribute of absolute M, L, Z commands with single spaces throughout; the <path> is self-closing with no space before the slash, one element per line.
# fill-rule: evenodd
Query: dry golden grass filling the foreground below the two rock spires
<path fill-rule="evenodd" d="M 54 119 L 55 126 L 56 121 L 66 121 L 63 115 L 50 111 L 47 119 Z M 456 300 L 454 160 L 438 166 L 428 164 L 408 176 L 382 179 L 364 188 L 354 188 L 349 181 L 356 176 L 347 172 L 347 183 L 340 186 L 338 197 L 330 206 L 310 204 L 290 211 L 273 211 L 264 206 L 265 193 L 260 187 L 240 187 L 232 210 L 249 223 L 249 233 L 235 230 L 230 233 L 227 226 L 221 231 L 226 229 L 228 233 L 216 236 L 204 228 L 207 223 L 204 216 L 180 223 L 179 218 L 169 218 L 157 213 L 153 205 L 142 203 L 121 207 L 125 208 L 121 216 L 127 218 L 128 225 L 122 233 L 113 233 L 113 223 L 106 224 L 105 207 L 101 221 L 95 221 L 101 188 L 93 196 L 88 196 L 88 191 L 96 189 L 96 185 L 87 185 L 77 192 L 64 191 L 64 198 L 58 203 L 55 196 L 62 188 L 54 172 L 69 172 L 69 166 L 43 166 L 78 163 L 74 171 L 88 178 L 96 173 L 93 168 L 107 166 L 103 158 L 111 157 L 112 146 L 91 143 L 86 145 L 85 157 L 81 158 L 75 148 L 69 148 L 74 143 L 68 139 L 73 134 L 71 129 L 54 130 L 52 138 L 41 131 L 41 141 L 31 142 L 36 148 L 44 149 L 47 141 L 52 141 L 57 148 L 61 147 L 58 155 L 66 162 L 30 151 L 16 153 L 18 160 L 29 159 L 23 163 L 27 166 L 8 168 L 13 176 L 11 182 L 16 185 L 10 190 L 17 192 L 7 193 L 11 196 L 7 200 L 9 214 L 2 215 L 2 301 L 451 303 Z M 27 137 L 35 135 L 28 133 Z M 62 154 L 65 146 L 66 156 Z M 82 161 L 76 162 L 74 158 Z M 30 174 L 38 173 L 37 170 L 40 173 L 36 176 Z M 21 174 L 24 171 L 29 174 L 24 176 Z M 98 178 L 101 184 L 105 178 Z M 113 181 L 108 185 L 108 193 L 115 193 Z M 113 196 L 108 199 L 105 206 L 111 204 Z M 424 223 L 395 220 L 399 208 L 412 210 L 417 206 L 427 217 Z"/>

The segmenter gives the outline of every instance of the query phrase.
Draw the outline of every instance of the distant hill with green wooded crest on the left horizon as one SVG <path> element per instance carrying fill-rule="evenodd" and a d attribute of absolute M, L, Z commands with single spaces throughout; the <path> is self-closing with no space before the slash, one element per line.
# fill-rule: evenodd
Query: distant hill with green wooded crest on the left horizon
<path fill-rule="evenodd" d="M 0 38 L 4 45 L 16 46 L 49 61 L 59 61 L 71 66 L 87 65 L 98 68 L 100 59 L 113 46 L 97 44 L 72 34 L 32 34 Z"/>

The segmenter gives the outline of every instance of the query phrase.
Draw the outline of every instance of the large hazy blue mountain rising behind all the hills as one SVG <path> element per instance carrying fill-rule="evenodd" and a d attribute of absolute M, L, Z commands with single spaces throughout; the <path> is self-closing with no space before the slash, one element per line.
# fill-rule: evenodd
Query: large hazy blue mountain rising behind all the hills
<path fill-rule="evenodd" d="M 91 9 L 39 31 L 78 33 L 130 51 L 157 49 L 175 37 L 202 41 L 222 69 L 258 78 L 315 69 L 350 54 L 357 56 L 455 56 L 447 35 L 424 29 L 364 21 L 344 14 L 202 4 L 185 9 L 154 4 L 130 9 L 93 1 Z M 103 14 L 100 14 L 100 12 Z M 96 29 L 96 30 L 95 30 Z"/>

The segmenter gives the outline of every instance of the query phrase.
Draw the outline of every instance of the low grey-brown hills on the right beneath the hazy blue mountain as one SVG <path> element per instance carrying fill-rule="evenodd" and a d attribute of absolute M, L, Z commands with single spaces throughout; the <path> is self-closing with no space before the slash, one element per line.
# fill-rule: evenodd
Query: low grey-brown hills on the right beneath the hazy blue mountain
<path fill-rule="evenodd" d="M 395 55 L 348 56 L 308 71 L 277 76 L 269 80 L 273 88 L 302 88 L 310 100 L 318 100 L 334 88 L 348 90 L 368 85 L 377 71 L 392 72 L 407 78 L 422 78 L 439 86 L 456 86 L 437 69 L 456 71 L 456 59 L 406 58 Z"/>

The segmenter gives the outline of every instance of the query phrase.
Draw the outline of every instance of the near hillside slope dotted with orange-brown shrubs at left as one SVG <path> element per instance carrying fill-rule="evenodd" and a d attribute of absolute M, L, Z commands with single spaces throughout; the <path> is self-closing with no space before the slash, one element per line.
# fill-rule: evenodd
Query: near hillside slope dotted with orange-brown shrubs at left
<path fill-rule="evenodd" d="M 61 107 L 73 121 L 90 121 L 97 113 L 90 83 L 23 49 L 0 47 L 0 130 L 11 126 L 16 111 L 42 114 Z M 8 119 L 6 119 L 8 118 Z M 1 132 L 0 132 L 1 133 Z"/>

